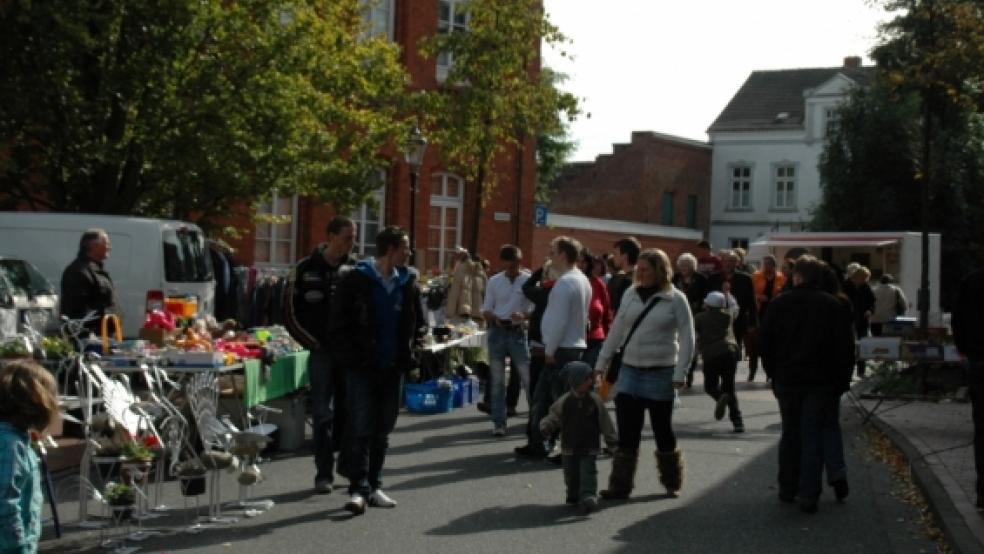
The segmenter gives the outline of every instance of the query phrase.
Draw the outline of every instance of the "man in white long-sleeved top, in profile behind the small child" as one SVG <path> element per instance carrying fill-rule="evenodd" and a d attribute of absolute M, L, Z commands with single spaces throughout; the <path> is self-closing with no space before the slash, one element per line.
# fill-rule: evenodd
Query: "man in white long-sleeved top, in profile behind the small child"
<path fill-rule="evenodd" d="M 576 262 L 581 243 L 571 237 L 557 237 L 550 243 L 550 263 L 560 273 L 547 297 L 547 309 L 543 312 L 540 332 L 546 364 L 530 409 L 532 429 L 540 428 L 550 405 L 564 393 L 560 370 L 570 362 L 581 359 L 587 348 L 588 307 L 591 304 L 591 283 Z M 516 449 L 523 456 L 542 457 L 544 449 L 540 441 L 533 440 Z"/>

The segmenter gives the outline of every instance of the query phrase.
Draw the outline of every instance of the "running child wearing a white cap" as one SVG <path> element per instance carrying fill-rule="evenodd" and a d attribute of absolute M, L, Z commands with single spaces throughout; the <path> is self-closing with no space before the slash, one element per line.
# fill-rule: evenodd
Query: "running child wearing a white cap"
<path fill-rule="evenodd" d="M 729 309 L 728 297 L 712 292 L 704 299 L 704 311 L 694 317 L 697 348 L 704 360 L 704 391 L 716 402 L 714 419 L 730 412 L 735 433 L 744 433 L 745 424 L 735 396 L 735 370 L 738 368 L 738 343 L 732 326 L 735 313 Z"/>

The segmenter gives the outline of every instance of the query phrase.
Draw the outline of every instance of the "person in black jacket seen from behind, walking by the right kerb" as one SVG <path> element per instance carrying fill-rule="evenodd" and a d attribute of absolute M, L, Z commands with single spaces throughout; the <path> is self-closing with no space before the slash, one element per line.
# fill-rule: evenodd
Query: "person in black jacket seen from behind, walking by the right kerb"
<path fill-rule="evenodd" d="M 837 406 L 854 364 L 850 312 L 820 288 L 824 271 L 823 262 L 800 257 L 794 287 L 769 304 L 759 335 L 762 367 L 772 379 L 782 420 L 779 499 L 792 502 L 798 495 L 807 513 L 817 510 L 823 435 L 840 432 Z M 847 496 L 846 472 L 828 480 L 838 500 Z"/>

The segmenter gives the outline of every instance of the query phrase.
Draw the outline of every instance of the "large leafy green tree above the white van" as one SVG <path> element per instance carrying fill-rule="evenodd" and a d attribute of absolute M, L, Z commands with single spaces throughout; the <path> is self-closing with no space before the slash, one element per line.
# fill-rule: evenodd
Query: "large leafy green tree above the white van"
<path fill-rule="evenodd" d="M 405 133 L 406 82 L 396 46 L 366 38 L 360 10 L 4 3 L 0 197 L 206 224 L 273 189 L 358 202 Z"/>

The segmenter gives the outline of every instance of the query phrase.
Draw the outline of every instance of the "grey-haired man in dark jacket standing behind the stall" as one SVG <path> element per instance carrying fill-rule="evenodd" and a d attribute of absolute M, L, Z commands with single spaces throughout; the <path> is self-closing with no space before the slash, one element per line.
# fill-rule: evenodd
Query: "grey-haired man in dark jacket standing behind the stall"
<path fill-rule="evenodd" d="M 79 239 L 75 260 L 62 272 L 62 315 L 81 319 L 89 312 L 95 312 L 98 317 L 85 324 L 93 333 L 99 330 L 102 316 L 118 313 L 113 280 L 103 267 L 111 249 L 106 231 L 89 229 Z"/>

